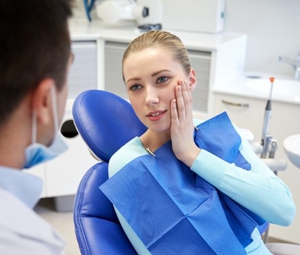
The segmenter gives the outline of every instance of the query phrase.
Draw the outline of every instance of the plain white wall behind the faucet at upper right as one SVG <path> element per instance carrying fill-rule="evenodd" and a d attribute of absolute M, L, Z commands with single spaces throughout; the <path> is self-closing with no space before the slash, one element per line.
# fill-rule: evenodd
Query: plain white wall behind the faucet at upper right
<path fill-rule="evenodd" d="M 248 35 L 246 70 L 293 76 L 279 55 L 300 52 L 299 0 L 226 0 L 224 31 Z"/>

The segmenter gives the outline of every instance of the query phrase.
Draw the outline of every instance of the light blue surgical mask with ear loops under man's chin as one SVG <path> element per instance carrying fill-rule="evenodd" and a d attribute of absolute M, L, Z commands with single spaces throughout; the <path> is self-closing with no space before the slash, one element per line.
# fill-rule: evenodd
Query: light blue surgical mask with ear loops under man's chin
<path fill-rule="evenodd" d="M 62 139 L 61 134 L 58 133 L 58 111 L 56 103 L 56 94 L 55 87 L 51 87 L 51 98 L 53 105 L 53 117 L 54 117 L 54 129 L 55 129 L 55 138 L 50 146 L 45 146 L 44 144 L 37 143 L 37 115 L 36 112 L 33 112 L 32 117 L 32 143 L 25 149 L 25 163 L 23 168 L 30 168 L 39 163 L 51 160 L 62 152 L 64 152 L 68 147 L 64 140 Z"/>

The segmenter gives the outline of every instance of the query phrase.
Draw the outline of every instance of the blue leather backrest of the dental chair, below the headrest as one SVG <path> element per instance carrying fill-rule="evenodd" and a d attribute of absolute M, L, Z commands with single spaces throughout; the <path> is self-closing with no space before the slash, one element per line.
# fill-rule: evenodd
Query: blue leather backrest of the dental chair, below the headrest
<path fill-rule="evenodd" d="M 84 175 L 74 203 L 74 225 L 81 254 L 136 254 L 117 219 L 112 203 L 98 186 L 108 179 L 101 162 Z"/>

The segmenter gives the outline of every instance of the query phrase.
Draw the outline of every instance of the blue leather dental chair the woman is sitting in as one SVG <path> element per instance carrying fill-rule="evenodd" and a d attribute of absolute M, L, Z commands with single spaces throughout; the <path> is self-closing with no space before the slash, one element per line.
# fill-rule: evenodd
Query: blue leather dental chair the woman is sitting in
<path fill-rule="evenodd" d="M 128 101 L 107 91 L 82 92 L 74 101 L 72 114 L 91 155 L 102 161 L 85 173 L 74 201 L 73 221 L 81 254 L 137 254 L 112 203 L 98 187 L 108 180 L 108 162 L 114 152 L 142 135 L 146 127 Z M 260 233 L 267 227 L 268 223 L 260 226 Z"/>

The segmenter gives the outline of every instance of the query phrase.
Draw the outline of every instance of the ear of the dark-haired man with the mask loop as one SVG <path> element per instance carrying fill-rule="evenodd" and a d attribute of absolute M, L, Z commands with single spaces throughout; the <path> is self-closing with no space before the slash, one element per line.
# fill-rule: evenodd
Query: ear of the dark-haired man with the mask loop
<path fill-rule="evenodd" d="M 55 86 L 52 79 L 42 80 L 32 94 L 32 107 L 37 113 L 37 121 L 47 124 L 52 119 L 51 87 Z"/>

